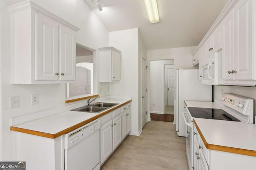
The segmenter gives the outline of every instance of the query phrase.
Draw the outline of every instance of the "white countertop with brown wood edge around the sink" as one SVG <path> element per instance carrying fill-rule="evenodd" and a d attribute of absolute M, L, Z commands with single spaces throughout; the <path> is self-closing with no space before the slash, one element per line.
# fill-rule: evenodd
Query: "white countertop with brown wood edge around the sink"
<path fill-rule="evenodd" d="M 118 105 L 111 107 L 99 113 L 88 113 L 81 111 L 64 111 L 58 114 L 36 119 L 22 123 L 20 125 L 11 126 L 10 130 L 18 131 L 22 133 L 28 133 L 32 135 L 38 135 L 48 138 L 56 138 L 60 135 L 68 133 L 90 121 L 98 119 L 102 115 L 105 115 L 114 109 L 124 106 L 130 103 L 130 99 L 107 99 L 102 102 L 118 103 Z"/>

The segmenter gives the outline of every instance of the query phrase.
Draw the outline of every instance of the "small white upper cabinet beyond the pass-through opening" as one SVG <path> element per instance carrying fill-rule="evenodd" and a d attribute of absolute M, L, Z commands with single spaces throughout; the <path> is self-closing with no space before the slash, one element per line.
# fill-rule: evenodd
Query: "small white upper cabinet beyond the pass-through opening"
<path fill-rule="evenodd" d="M 98 53 L 99 81 L 114 82 L 119 81 L 121 51 L 114 47 L 99 48 Z"/>

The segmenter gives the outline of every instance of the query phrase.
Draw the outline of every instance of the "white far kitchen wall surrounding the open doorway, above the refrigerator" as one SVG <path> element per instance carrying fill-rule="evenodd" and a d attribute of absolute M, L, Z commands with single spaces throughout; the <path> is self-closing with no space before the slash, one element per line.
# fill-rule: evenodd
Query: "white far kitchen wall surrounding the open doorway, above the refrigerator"
<path fill-rule="evenodd" d="M 198 67 L 192 66 L 192 54 L 194 53 L 196 46 L 193 47 L 180 47 L 172 49 L 160 49 L 148 51 L 148 66 L 152 60 L 168 60 L 174 59 L 174 69 L 198 69 Z M 148 69 L 148 75 L 150 75 L 150 69 Z M 175 74 L 174 74 L 175 75 Z M 149 77 L 149 76 L 148 76 Z M 175 79 L 175 77 L 174 77 Z M 148 79 L 148 98 L 150 99 L 150 80 Z M 148 113 L 150 113 L 150 100 L 148 100 Z M 148 120 L 150 120 L 150 114 L 148 114 Z"/>

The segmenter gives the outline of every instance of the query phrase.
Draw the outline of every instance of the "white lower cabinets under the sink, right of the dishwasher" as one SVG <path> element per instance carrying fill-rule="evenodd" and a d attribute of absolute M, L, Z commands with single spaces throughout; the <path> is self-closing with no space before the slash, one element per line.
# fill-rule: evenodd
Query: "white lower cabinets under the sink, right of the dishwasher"
<path fill-rule="evenodd" d="M 102 165 L 131 131 L 130 104 L 102 116 L 100 123 L 100 164 Z"/>

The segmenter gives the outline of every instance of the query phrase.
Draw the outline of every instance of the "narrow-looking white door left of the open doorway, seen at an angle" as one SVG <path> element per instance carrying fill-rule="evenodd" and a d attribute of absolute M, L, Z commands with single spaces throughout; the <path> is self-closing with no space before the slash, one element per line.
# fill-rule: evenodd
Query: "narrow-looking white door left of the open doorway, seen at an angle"
<path fill-rule="evenodd" d="M 146 69 L 146 60 L 142 59 L 142 63 L 141 63 L 141 68 L 142 68 L 142 72 L 141 72 L 141 93 L 142 93 L 142 98 L 141 98 L 141 103 L 142 103 L 142 112 L 141 112 L 141 116 L 142 116 L 142 128 L 144 127 L 144 125 L 147 122 L 147 69 Z"/>

